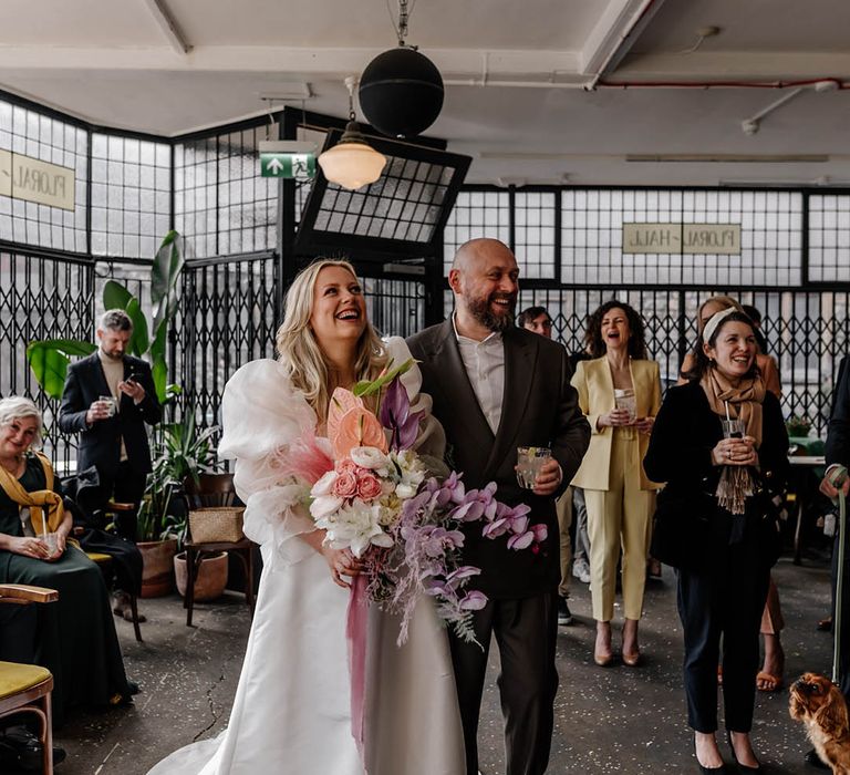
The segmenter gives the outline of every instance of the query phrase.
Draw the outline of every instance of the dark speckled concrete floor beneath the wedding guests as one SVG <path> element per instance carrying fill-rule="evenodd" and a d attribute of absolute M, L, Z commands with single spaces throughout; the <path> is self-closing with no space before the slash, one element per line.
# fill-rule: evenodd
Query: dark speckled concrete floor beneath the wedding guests
<path fill-rule="evenodd" d="M 802 567 L 784 558 L 775 577 L 787 623 L 782 637 L 787 678 L 806 670 L 830 674 L 831 638 L 815 629 L 827 612 L 829 597 L 825 558 L 809 558 Z M 645 660 L 638 669 L 595 666 L 585 585 L 574 582 L 570 604 L 576 620 L 560 628 L 561 685 L 549 772 L 696 773 L 684 721 L 681 628 L 672 570 L 665 568 L 662 581 L 647 583 L 641 623 Z M 176 596 L 144 600 L 142 609 L 148 617 L 143 624 L 145 642 L 136 643 L 125 622 L 118 622 L 118 634 L 127 672 L 142 684 L 143 693 L 133 707 L 81 714 L 60 730 L 58 743 L 69 754 L 56 769 L 61 775 L 142 775 L 165 754 L 212 736 L 227 723 L 249 627 L 243 598 L 228 593 L 216 603 L 197 606 L 193 628 L 185 626 Z M 619 631 L 619 623 L 615 628 Z M 494 655 L 480 734 L 485 775 L 504 772 L 497 669 Z M 802 728 L 789 719 L 787 706 L 787 691 L 758 694 L 757 751 L 767 773 L 812 773 L 802 764 L 808 747 Z M 280 773 L 286 771 L 281 767 Z"/>

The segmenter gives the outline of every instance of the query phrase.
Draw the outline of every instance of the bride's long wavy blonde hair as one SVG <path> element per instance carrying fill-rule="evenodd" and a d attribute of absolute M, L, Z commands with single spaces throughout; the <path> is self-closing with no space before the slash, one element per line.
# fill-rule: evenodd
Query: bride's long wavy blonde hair
<path fill-rule="evenodd" d="M 313 312 L 313 291 L 319 272 L 325 267 L 340 267 L 357 280 L 354 267 L 348 261 L 320 258 L 303 269 L 287 291 L 283 323 L 278 329 L 276 345 L 280 362 L 287 370 L 292 384 L 300 390 L 320 420 L 328 414 L 331 397 L 330 368 L 328 360 L 315 341 L 310 327 Z M 359 281 L 359 280 L 357 280 Z M 357 380 L 371 380 L 386 365 L 384 343 L 366 319 L 366 326 L 357 340 L 354 358 L 354 374 Z"/>

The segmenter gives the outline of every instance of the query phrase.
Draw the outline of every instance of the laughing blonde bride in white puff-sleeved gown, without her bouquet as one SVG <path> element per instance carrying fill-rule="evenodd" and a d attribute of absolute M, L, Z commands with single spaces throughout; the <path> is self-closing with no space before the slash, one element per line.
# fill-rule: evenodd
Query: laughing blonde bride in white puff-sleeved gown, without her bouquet
<path fill-rule="evenodd" d="M 345 641 L 350 550 L 323 544 L 290 495 L 280 452 L 304 431 L 325 432 L 336 386 L 374 379 L 410 358 L 403 339 L 382 342 L 346 261 L 319 260 L 296 278 L 278 330 L 279 360 L 234 374 L 224 395 L 221 457 L 236 458 L 245 533 L 261 545 L 263 570 L 227 730 L 182 748 L 149 775 L 363 775 L 351 732 Z M 414 410 L 429 410 L 414 366 L 402 382 Z M 427 413 L 426 413 L 427 414 Z M 439 458 L 442 427 L 428 417 L 417 448 Z M 370 611 L 365 767 L 369 775 L 463 775 L 464 745 L 445 631 L 421 600 L 410 640 Z"/>

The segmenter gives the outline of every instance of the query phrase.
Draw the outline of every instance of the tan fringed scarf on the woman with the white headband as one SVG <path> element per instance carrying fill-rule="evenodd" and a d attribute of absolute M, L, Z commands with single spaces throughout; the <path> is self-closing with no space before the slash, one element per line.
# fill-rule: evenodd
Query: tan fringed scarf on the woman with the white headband
<path fill-rule="evenodd" d="M 746 435 L 756 440 L 755 446 L 761 446 L 761 402 L 765 400 L 765 384 L 761 378 L 739 380 L 734 385 L 717 369 L 708 369 L 699 380 L 708 404 L 715 414 L 744 421 Z M 744 514 L 747 498 L 753 495 L 753 476 L 744 466 L 723 466 L 717 483 L 717 503 L 730 514 Z M 743 526 L 733 529 L 730 542 L 736 542 L 743 535 Z"/>

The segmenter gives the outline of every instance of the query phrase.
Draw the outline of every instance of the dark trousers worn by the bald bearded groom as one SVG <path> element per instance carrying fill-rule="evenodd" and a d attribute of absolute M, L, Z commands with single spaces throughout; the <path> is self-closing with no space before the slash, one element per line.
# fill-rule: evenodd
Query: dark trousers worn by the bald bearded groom
<path fill-rule="evenodd" d="M 542 775 L 549 763 L 558 691 L 557 590 L 516 600 L 490 600 L 474 613 L 473 627 L 483 649 L 449 631 L 467 775 L 478 773 L 478 719 L 490 636 L 496 637 L 501 663 L 498 686 L 507 775 Z"/>

